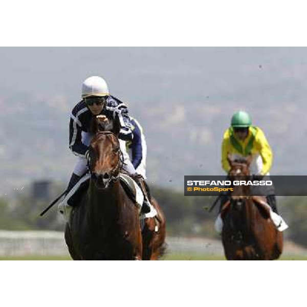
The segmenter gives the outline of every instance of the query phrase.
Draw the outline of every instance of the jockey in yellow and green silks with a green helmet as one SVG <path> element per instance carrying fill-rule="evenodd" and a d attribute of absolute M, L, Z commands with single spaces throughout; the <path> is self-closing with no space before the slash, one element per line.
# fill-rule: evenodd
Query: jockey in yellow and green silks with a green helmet
<path fill-rule="evenodd" d="M 231 126 L 225 131 L 222 142 L 222 167 L 226 173 L 230 170 L 228 156 L 232 160 L 246 159 L 252 155 L 250 171 L 258 179 L 270 176 L 270 169 L 273 162 L 273 153 L 264 132 L 252 125 L 251 117 L 244 111 L 236 112 L 231 119 Z M 278 215 L 276 206 L 276 196 L 274 188 L 266 195 L 267 203 L 272 208 L 272 220 L 278 230 L 283 231 L 288 225 Z M 228 201 L 228 195 L 221 196 L 221 207 Z M 215 228 L 218 232 L 222 231 L 223 221 L 218 215 Z"/>

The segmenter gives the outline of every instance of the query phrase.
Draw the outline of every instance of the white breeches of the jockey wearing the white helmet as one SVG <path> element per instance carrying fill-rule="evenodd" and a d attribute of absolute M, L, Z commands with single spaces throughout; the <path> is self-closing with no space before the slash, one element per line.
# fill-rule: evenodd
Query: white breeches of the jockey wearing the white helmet
<path fill-rule="evenodd" d="M 89 146 L 94 135 L 91 133 L 82 132 L 82 143 L 86 146 Z M 123 140 L 119 140 L 120 149 L 123 153 L 123 169 L 127 171 L 129 174 L 133 175 L 136 173 L 136 170 L 133 166 L 133 164 L 130 161 L 129 155 L 126 150 L 126 142 Z M 87 161 L 85 158 L 78 157 L 78 161 L 74 168 L 74 173 L 78 176 L 82 176 L 87 170 Z"/>

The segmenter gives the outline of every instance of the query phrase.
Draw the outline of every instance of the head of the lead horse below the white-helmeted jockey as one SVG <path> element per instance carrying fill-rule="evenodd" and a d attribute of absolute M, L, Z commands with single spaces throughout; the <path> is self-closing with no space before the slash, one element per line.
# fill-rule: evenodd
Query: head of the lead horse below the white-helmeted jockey
<path fill-rule="evenodd" d="M 122 156 L 118 134 L 119 121 L 109 121 L 105 116 L 97 116 L 96 134 L 89 146 L 89 169 L 97 187 L 107 188 L 117 180 L 122 167 Z"/>

